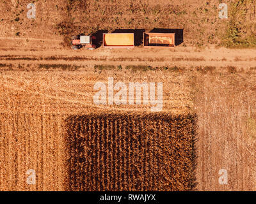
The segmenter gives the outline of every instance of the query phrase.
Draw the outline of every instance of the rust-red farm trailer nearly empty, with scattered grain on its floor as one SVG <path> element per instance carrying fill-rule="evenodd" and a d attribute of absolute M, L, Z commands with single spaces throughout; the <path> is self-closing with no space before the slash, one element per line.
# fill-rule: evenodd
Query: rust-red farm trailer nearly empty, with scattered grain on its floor
<path fill-rule="evenodd" d="M 175 33 L 144 33 L 144 47 L 175 47 Z"/>

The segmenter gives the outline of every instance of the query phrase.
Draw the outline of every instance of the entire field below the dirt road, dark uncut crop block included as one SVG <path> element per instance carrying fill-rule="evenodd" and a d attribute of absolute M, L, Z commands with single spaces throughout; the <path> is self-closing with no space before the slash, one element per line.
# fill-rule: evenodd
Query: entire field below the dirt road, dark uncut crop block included
<path fill-rule="evenodd" d="M 107 84 L 109 76 L 115 76 L 114 82 L 143 82 L 146 79 L 163 82 L 163 110 L 152 113 L 150 105 L 143 103 L 93 105 L 93 84 L 99 81 Z M 192 187 L 199 191 L 255 190 L 256 87 L 253 82 L 256 81 L 256 74 L 253 69 L 169 68 L 140 71 L 108 67 L 58 71 L 51 68 L 1 71 L 0 77 L 0 162 L 4 166 L 0 172 L 2 191 L 164 191 L 189 190 Z M 158 116 L 152 117 L 152 114 Z M 189 124 L 186 115 L 195 114 L 193 121 L 196 124 Z M 171 131 L 179 129 L 179 121 L 183 120 L 190 128 L 181 126 L 180 135 Z M 107 124 L 107 129 L 102 128 Z M 166 129 L 168 135 L 160 126 Z M 147 134 L 138 131 L 142 127 Z M 194 131 L 192 127 L 196 127 L 197 135 L 194 153 L 189 144 L 195 135 L 186 137 L 183 134 Z M 121 135 L 122 132 L 125 134 Z M 184 140 L 179 140 L 179 136 Z M 78 146 L 74 146 L 77 140 Z M 159 146 L 154 146 L 154 142 L 158 142 Z M 152 149 L 149 150 L 150 146 Z M 131 150 L 138 154 L 133 154 Z M 107 154 L 102 154 L 102 151 Z M 135 160 L 124 161 L 122 157 L 127 159 L 126 154 L 132 154 Z M 196 166 L 193 166 L 194 161 L 192 164 L 193 154 Z M 151 160 L 144 163 L 147 157 Z M 186 158 L 189 167 L 180 163 L 184 160 L 178 157 Z M 180 177 L 176 170 L 179 167 L 168 163 L 174 158 L 173 161 L 186 166 L 184 171 L 179 171 L 182 173 Z M 111 163 L 114 159 L 116 163 Z M 123 162 L 124 166 L 118 166 Z M 104 163 L 115 166 L 106 171 Z M 154 186 L 152 180 L 147 179 L 159 171 L 160 167 L 150 169 L 150 166 L 156 165 L 161 166 L 163 172 L 154 178 L 159 180 Z M 99 171 L 92 170 L 92 166 Z M 29 169 L 36 172 L 35 185 L 26 183 L 26 171 Z M 88 169 L 91 173 L 87 177 L 84 170 Z M 227 185 L 218 182 L 220 169 L 228 172 Z M 125 172 L 125 179 L 120 170 Z M 168 174 L 170 171 L 174 174 Z M 140 176 L 134 179 L 134 175 Z M 185 175 L 188 177 L 184 180 Z M 72 177 L 77 179 L 70 179 Z M 86 180 L 82 182 L 84 177 Z M 107 177 L 115 182 L 109 182 Z M 173 178 L 177 177 L 179 182 L 175 183 Z"/>

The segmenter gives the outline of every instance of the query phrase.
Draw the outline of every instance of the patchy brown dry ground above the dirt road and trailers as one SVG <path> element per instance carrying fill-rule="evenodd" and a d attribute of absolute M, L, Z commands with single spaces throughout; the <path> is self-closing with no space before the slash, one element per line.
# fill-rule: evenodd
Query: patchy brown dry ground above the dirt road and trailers
<path fill-rule="evenodd" d="M 152 31 L 160 28 L 181 29 L 183 34 L 179 33 L 179 38 L 180 41 L 184 40 L 184 46 L 216 45 L 230 39 L 234 45 L 239 41 L 245 47 L 255 46 L 255 41 L 251 39 L 256 31 L 255 0 L 33 2 L 36 4 L 36 18 L 28 19 L 26 17 L 28 1 L 1 1 L 0 25 L 4 29 L 0 30 L 0 37 L 28 40 L 39 38 L 42 41 L 62 40 L 63 36 L 79 33 L 112 32 L 115 29 Z M 218 18 L 220 3 L 228 4 L 228 20 Z M 241 31 L 236 33 L 237 29 Z M 232 37 L 236 34 L 239 38 Z M 60 42 L 55 41 L 55 43 Z"/>

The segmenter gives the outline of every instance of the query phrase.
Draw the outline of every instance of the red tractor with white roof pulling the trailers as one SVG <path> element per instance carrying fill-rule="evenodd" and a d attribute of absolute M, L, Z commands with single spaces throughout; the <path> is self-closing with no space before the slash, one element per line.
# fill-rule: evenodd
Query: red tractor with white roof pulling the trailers
<path fill-rule="evenodd" d="M 96 40 L 95 36 L 85 36 L 79 34 L 78 36 L 72 36 L 71 48 L 73 50 L 79 50 L 82 47 L 87 48 L 88 50 L 94 50 L 96 45 L 93 45 L 92 40 Z"/>

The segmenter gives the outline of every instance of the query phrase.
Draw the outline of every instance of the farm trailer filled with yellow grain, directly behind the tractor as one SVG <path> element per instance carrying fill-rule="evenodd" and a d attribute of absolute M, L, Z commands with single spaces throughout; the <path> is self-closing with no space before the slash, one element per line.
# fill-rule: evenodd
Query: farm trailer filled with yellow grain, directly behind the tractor
<path fill-rule="evenodd" d="M 134 48 L 134 33 L 104 33 L 104 48 Z"/>

